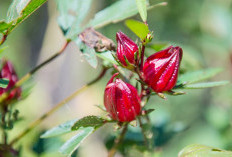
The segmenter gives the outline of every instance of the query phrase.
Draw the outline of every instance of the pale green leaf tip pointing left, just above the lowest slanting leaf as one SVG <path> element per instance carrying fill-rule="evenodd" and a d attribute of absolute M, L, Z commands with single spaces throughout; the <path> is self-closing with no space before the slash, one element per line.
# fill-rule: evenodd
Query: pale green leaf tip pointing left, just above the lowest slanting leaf
<path fill-rule="evenodd" d="M 52 129 L 46 131 L 40 137 L 41 138 L 49 138 L 49 137 L 54 137 L 54 136 L 59 136 L 59 135 L 69 133 L 72 131 L 71 128 L 75 124 L 76 121 L 77 121 L 77 119 L 74 119 L 74 120 L 67 121 L 63 124 L 60 124 Z"/>

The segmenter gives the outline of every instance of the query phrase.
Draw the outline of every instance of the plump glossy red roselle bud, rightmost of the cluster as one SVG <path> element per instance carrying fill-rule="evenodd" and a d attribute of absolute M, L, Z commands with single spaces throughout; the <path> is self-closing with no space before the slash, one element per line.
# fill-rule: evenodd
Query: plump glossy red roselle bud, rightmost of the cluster
<path fill-rule="evenodd" d="M 171 90 L 176 82 L 183 51 L 170 46 L 148 57 L 144 63 L 144 81 L 157 93 Z"/>

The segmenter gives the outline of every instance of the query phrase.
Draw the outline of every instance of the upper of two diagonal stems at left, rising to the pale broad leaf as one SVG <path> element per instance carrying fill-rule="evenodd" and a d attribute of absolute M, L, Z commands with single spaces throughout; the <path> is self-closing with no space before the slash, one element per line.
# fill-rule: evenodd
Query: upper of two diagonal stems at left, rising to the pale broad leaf
<path fill-rule="evenodd" d="M 40 70 L 43 66 L 47 65 L 48 63 L 50 63 L 51 61 L 53 61 L 55 58 L 57 58 L 60 54 L 62 54 L 62 52 L 64 52 L 65 48 L 68 46 L 68 43 L 70 41 L 66 41 L 65 45 L 63 46 L 63 48 L 58 51 L 57 53 L 55 53 L 54 55 L 52 55 L 50 58 L 48 58 L 47 60 L 45 60 L 44 62 L 42 62 L 41 64 L 39 64 L 38 66 L 36 66 L 34 69 L 32 69 L 29 73 L 27 73 L 26 75 L 24 75 L 20 80 L 18 80 L 15 85 L 9 89 L 7 92 L 3 93 L 0 96 L 0 104 L 6 100 L 10 94 L 10 92 L 17 88 L 20 87 L 24 82 L 26 82 L 29 78 L 31 78 L 31 76 L 33 74 L 35 74 L 38 70 Z"/>

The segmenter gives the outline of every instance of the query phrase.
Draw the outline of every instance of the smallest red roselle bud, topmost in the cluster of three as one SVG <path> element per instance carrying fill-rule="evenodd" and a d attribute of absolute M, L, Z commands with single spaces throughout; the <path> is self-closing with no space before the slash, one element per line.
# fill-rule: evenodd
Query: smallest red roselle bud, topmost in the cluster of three
<path fill-rule="evenodd" d="M 135 64 L 135 53 L 138 51 L 137 44 L 122 32 L 117 32 L 116 40 L 118 44 L 118 60 L 124 66 L 128 66 L 125 59 L 127 59 L 129 63 Z"/>

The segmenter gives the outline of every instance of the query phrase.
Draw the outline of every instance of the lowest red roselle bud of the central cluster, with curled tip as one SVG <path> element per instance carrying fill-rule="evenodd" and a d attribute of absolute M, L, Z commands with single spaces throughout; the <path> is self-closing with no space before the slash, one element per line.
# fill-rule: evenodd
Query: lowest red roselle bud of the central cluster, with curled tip
<path fill-rule="evenodd" d="M 104 105 L 112 119 L 130 122 L 140 114 L 140 98 L 134 86 L 116 78 L 114 74 L 107 83 L 104 94 Z"/>

